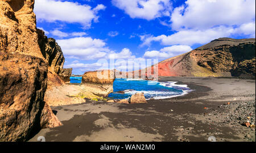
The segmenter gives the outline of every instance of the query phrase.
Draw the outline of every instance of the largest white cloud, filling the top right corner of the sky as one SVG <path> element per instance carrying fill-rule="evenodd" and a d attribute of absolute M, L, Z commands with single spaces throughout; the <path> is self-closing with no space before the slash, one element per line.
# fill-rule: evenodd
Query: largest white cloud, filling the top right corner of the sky
<path fill-rule="evenodd" d="M 255 0 L 188 0 L 171 14 L 174 30 L 240 26 L 253 20 L 255 22 Z"/>

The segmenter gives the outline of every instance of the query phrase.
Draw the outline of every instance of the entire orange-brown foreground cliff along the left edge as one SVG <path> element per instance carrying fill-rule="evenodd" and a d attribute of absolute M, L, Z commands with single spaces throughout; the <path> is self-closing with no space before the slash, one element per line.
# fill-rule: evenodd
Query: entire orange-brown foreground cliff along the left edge
<path fill-rule="evenodd" d="M 49 66 L 33 7 L 34 0 L 0 1 L 0 141 L 26 141 L 61 125 L 43 101 Z"/>

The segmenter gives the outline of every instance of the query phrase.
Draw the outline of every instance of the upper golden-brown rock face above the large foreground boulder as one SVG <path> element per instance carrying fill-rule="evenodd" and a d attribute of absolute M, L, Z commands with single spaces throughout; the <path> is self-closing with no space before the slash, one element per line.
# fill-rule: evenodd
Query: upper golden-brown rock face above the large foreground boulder
<path fill-rule="evenodd" d="M 32 0 L 0 1 L 0 50 L 43 58 Z"/>

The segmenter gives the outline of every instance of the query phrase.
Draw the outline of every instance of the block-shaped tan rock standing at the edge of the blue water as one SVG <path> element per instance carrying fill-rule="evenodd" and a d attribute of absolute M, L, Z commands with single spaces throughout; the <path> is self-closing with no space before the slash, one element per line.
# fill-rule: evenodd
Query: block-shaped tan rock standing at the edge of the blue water
<path fill-rule="evenodd" d="M 113 70 L 89 71 L 82 75 L 82 85 L 94 95 L 106 97 L 113 92 Z"/>

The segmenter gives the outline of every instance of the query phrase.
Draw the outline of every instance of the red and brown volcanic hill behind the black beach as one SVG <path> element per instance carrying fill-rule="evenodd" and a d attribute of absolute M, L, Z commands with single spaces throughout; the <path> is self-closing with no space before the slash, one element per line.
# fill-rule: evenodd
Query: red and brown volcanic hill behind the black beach
<path fill-rule="evenodd" d="M 158 76 L 255 76 L 255 39 L 216 39 L 133 73 L 150 78 L 153 67 Z"/>

